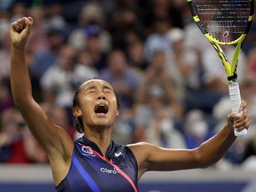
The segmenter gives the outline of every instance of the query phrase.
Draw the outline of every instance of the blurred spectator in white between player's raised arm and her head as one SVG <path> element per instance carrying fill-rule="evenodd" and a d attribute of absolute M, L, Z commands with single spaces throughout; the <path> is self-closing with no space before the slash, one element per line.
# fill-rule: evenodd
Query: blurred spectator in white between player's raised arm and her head
<path fill-rule="evenodd" d="M 60 107 L 69 107 L 72 101 L 74 74 L 76 65 L 76 48 L 65 45 L 60 51 L 60 57 L 41 78 L 44 100 L 54 102 Z"/>

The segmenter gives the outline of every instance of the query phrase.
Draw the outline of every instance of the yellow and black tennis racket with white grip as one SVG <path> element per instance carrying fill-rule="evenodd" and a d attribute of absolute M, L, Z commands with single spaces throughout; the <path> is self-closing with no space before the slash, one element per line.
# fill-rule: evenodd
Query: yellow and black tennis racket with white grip
<path fill-rule="evenodd" d="M 253 18 L 254 0 L 188 0 L 193 19 L 218 53 L 228 77 L 232 112 L 239 114 L 241 95 L 237 82 L 237 62 Z M 236 45 L 231 63 L 220 45 Z M 247 133 L 235 130 L 236 136 Z"/>

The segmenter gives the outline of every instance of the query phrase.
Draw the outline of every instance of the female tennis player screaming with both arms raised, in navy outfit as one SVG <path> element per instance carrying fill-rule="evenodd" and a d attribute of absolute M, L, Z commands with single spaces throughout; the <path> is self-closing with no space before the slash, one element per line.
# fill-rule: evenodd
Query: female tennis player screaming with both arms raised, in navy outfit
<path fill-rule="evenodd" d="M 11 25 L 12 95 L 49 158 L 57 191 L 138 191 L 138 180 L 144 172 L 204 168 L 216 163 L 236 140 L 234 129 L 248 129 L 251 124 L 243 101 L 241 115 L 228 115 L 223 129 L 198 148 L 120 145 L 111 140 L 119 114 L 116 92 L 108 82 L 92 79 L 75 93 L 73 115 L 76 128 L 84 136 L 73 141 L 64 129 L 52 124 L 32 97 L 25 56 L 32 23 L 31 17 L 23 17 Z"/>

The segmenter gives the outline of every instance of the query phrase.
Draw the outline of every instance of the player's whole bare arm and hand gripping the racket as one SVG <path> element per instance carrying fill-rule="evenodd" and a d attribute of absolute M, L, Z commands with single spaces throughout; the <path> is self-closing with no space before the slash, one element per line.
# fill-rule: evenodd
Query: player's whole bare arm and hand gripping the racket
<path fill-rule="evenodd" d="M 193 168 L 204 168 L 217 163 L 236 140 L 234 127 L 239 130 L 248 128 L 251 124 L 246 114 L 246 102 L 242 102 L 243 113 L 240 116 L 230 114 L 228 124 L 210 140 L 206 140 L 194 149 L 160 148 L 149 143 L 129 145 L 135 155 L 139 173 L 138 177 L 147 171 L 174 171 Z"/>

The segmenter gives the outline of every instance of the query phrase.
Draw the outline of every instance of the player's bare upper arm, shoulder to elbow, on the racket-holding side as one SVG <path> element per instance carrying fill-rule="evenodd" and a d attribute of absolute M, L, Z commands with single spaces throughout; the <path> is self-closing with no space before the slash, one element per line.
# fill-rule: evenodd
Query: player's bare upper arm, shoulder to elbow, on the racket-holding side
<path fill-rule="evenodd" d="M 139 176 L 148 171 L 174 171 L 197 167 L 197 149 L 162 148 L 147 142 L 128 145 L 137 159 Z"/>

